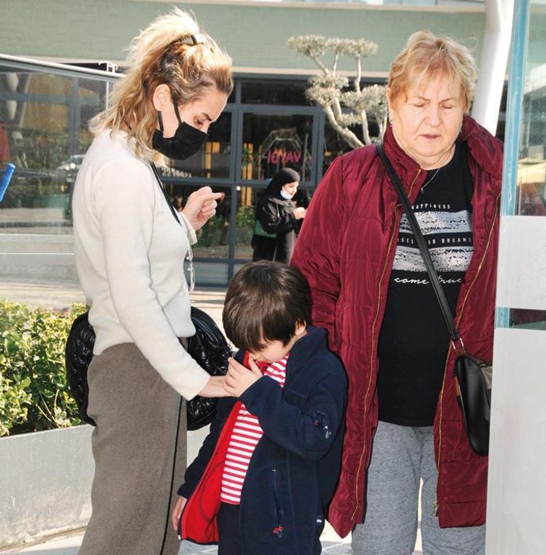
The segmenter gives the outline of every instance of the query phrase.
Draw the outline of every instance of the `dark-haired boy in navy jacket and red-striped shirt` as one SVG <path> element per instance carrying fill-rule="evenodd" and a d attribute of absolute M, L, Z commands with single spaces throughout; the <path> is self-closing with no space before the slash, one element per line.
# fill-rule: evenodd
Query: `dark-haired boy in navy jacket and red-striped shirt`
<path fill-rule="evenodd" d="M 241 350 L 230 359 L 230 397 L 178 490 L 172 522 L 183 539 L 218 542 L 218 555 L 321 553 L 347 381 L 310 319 L 298 270 L 261 261 L 233 276 L 223 325 Z"/>

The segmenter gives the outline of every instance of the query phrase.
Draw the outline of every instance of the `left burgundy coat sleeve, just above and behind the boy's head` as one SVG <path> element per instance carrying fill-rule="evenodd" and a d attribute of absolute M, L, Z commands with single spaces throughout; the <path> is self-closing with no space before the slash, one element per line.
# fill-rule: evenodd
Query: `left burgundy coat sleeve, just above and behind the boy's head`
<path fill-rule="evenodd" d="M 313 325 L 328 332 L 328 346 L 333 352 L 339 348 L 335 313 L 340 293 L 342 201 L 341 158 L 337 158 L 318 184 L 290 261 L 309 283 Z"/>

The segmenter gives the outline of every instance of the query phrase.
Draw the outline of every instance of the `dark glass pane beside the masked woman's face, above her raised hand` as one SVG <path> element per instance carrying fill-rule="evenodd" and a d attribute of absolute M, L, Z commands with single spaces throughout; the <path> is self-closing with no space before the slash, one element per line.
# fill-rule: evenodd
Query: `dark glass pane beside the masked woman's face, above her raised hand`
<path fill-rule="evenodd" d="M 223 112 L 208 128 L 208 138 L 199 152 L 185 160 L 173 160 L 166 175 L 228 178 L 230 172 L 231 113 Z"/>

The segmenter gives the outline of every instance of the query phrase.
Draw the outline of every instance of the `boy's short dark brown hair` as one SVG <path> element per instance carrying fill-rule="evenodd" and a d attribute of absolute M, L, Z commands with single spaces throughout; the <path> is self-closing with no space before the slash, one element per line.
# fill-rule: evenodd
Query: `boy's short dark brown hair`
<path fill-rule="evenodd" d="M 258 351 L 264 341 L 288 344 L 296 325 L 311 323 L 311 291 L 296 268 L 260 260 L 241 268 L 225 293 L 222 322 L 236 347 Z"/>

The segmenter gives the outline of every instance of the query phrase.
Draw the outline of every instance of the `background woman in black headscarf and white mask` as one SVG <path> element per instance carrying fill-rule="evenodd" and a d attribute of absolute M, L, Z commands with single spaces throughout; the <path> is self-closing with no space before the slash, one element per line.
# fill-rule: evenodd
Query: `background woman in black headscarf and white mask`
<path fill-rule="evenodd" d="M 296 208 L 292 202 L 299 181 L 298 172 L 283 168 L 269 182 L 256 209 L 252 260 L 289 262 L 296 244 L 298 222 L 306 213 L 305 208 Z"/>

